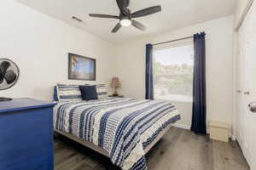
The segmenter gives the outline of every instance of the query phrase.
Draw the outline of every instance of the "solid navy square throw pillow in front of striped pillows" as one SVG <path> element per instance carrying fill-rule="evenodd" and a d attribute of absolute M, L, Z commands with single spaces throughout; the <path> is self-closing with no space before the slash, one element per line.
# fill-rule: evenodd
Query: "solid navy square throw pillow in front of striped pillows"
<path fill-rule="evenodd" d="M 96 86 L 79 86 L 79 88 L 83 100 L 98 99 Z"/>

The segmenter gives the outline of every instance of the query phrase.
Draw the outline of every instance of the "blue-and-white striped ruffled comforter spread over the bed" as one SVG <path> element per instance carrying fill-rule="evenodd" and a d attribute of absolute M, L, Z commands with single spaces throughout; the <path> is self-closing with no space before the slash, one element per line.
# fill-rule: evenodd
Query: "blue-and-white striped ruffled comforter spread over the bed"
<path fill-rule="evenodd" d="M 59 102 L 55 105 L 56 130 L 71 133 L 107 150 L 122 169 L 147 169 L 144 149 L 172 122 L 177 109 L 165 101 L 102 99 Z"/>

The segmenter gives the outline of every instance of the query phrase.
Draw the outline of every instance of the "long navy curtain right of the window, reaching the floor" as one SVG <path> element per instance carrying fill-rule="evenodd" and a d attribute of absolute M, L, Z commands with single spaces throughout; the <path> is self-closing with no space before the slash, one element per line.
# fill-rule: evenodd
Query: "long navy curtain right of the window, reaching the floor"
<path fill-rule="evenodd" d="M 207 133 L 207 99 L 206 99 L 206 33 L 194 35 L 194 87 L 193 115 L 191 130 L 195 133 Z"/>

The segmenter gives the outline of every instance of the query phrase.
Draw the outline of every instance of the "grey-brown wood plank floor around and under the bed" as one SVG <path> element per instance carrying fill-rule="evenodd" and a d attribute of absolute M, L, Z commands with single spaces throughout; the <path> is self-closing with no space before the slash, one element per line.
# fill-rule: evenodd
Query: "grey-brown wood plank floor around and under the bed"
<path fill-rule="evenodd" d="M 172 127 L 146 156 L 149 170 L 248 170 L 236 142 L 212 141 Z M 55 170 L 116 170 L 109 159 L 66 138 L 55 139 Z"/>

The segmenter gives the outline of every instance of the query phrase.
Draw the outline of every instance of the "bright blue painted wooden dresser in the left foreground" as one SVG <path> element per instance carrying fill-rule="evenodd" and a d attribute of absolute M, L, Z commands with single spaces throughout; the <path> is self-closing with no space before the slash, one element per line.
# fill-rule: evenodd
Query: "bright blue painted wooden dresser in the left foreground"
<path fill-rule="evenodd" d="M 0 102 L 0 170 L 53 170 L 54 103 Z"/>

